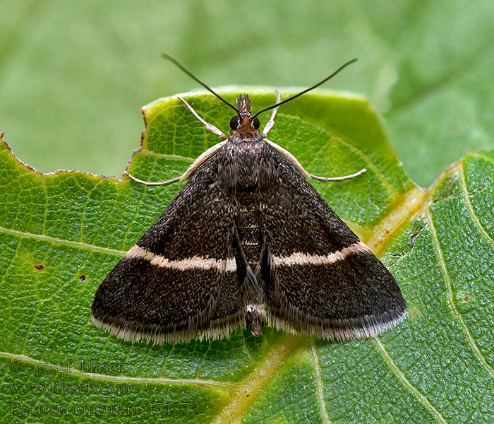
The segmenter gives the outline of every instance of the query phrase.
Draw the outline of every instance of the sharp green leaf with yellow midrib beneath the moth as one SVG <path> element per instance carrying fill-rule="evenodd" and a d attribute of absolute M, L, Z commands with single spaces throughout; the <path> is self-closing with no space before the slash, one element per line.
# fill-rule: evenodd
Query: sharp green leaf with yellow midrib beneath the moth
<path fill-rule="evenodd" d="M 248 92 L 254 111 L 275 100 Z M 228 107 L 186 98 L 228 130 Z M 143 114 L 140 179 L 176 177 L 218 141 L 175 98 Z M 366 100 L 329 92 L 282 106 L 269 136 L 313 174 L 367 168 L 315 187 L 397 278 L 406 321 L 345 343 L 268 328 L 162 346 L 109 336 L 90 323 L 95 290 L 180 184 L 42 175 L 1 142 L 0 423 L 494 422 L 494 152 L 419 189 Z"/>

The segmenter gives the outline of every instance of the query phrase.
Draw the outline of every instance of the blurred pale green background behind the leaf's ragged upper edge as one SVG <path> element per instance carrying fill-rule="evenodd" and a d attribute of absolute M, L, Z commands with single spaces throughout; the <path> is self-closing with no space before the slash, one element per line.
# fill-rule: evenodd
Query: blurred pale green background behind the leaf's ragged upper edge
<path fill-rule="evenodd" d="M 368 96 L 425 187 L 494 148 L 492 0 L 0 0 L 0 28 L 0 131 L 43 172 L 121 175 L 139 107 L 199 88 L 161 52 L 214 87 L 306 87 L 358 57 L 324 87 Z"/>

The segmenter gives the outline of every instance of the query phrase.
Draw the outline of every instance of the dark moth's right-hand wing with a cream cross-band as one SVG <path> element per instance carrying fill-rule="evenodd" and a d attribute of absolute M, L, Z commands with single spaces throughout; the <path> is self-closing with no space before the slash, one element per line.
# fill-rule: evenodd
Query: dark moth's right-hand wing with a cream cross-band
<path fill-rule="evenodd" d="M 271 160 L 277 182 L 260 191 L 270 324 L 350 339 L 401 322 L 406 302 L 391 273 L 289 160 Z"/>

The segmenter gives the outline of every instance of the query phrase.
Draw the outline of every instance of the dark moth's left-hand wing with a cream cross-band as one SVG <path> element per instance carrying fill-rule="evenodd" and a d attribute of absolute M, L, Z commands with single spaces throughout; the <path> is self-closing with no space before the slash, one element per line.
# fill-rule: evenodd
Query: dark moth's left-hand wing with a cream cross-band
<path fill-rule="evenodd" d="M 229 334 L 243 320 L 233 201 L 210 158 L 104 279 L 95 325 L 155 343 Z"/>

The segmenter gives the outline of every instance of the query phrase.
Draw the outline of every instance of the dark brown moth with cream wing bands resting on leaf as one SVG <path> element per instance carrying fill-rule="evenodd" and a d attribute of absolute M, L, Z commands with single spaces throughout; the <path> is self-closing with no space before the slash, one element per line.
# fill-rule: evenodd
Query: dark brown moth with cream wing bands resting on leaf
<path fill-rule="evenodd" d="M 292 334 L 349 340 L 381 334 L 406 315 L 406 302 L 385 266 L 332 210 L 308 179 L 318 177 L 267 139 L 279 105 L 251 113 L 236 107 L 229 136 L 167 185 L 188 180 L 171 204 L 110 271 L 95 294 L 92 322 L 127 341 L 154 343 L 253 336 L 266 322 Z M 354 59 L 356 60 L 356 59 Z M 263 132 L 258 115 L 273 110 Z"/>

